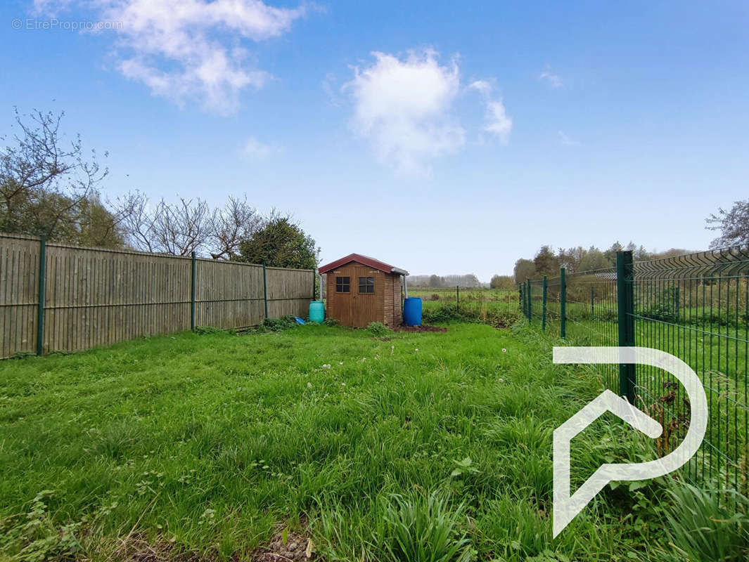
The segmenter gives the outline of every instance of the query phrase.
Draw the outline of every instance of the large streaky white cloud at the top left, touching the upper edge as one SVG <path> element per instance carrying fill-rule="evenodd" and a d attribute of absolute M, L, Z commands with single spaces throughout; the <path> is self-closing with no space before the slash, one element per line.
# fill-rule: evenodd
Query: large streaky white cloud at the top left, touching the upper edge
<path fill-rule="evenodd" d="M 53 13 L 67 0 L 36 0 Z M 240 40 L 267 40 L 288 31 L 304 7 L 277 8 L 261 0 L 91 0 L 78 4 L 103 22 L 121 22 L 118 70 L 157 96 L 229 114 L 245 88 L 261 88 L 270 76 L 249 64 Z"/>

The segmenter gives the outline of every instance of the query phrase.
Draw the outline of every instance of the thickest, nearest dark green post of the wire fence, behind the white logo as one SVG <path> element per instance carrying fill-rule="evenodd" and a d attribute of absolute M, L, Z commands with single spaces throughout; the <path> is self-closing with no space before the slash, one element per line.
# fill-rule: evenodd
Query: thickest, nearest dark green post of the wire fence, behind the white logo
<path fill-rule="evenodd" d="M 619 346 L 634 346 L 634 266 L 631 251 L 616 252 L 616 318 Z M 634 404 L 634 364 L 619 364 L 619 395 Z"/>

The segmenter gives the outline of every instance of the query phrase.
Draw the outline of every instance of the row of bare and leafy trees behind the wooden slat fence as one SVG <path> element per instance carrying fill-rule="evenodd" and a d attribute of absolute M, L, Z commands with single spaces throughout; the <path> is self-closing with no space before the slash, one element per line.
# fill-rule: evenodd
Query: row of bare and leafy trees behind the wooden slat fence
<path fill-rule="evenodd" d="M 0 148 L 0 232 L 50 242 L 313 269 L 320 248 L 291 216 L 258 213 L 246 198 L 219 207 L 200 198 L 151 201 L 135 191 L 108 201 L 109 174 L 79 135 L 66 141 L 64 113 L 15 111 Z M 104 153 L 104 156 L 108 156 Z"/>

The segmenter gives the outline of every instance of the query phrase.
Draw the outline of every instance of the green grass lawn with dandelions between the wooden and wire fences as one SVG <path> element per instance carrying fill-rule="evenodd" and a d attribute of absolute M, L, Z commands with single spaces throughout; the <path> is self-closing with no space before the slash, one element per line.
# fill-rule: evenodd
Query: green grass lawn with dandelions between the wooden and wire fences
<path fill-rule="evenodd" d="M 607 490 L 552 540 L 551 432 L 600 390 L 551 340 L 476 324 L 4 361 L 0 560 L 252 560 L 279 532 L 329 561 L 664 560 L 670 480 Z M 592 427 L 579 480 L 637 443 Z"/>

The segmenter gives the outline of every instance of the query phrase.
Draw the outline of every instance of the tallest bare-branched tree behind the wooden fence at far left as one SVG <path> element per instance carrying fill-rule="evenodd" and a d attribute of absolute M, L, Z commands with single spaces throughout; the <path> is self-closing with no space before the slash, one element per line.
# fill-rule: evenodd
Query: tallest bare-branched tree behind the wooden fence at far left
<path fill-rule="evenodd" d="M 59 132 L 63 116 L 35 111 L 26 123 L 16 109 L 19 131 L 13 146 L 0 150 L 0 230 L 76 239 L 80 206 L 96 195 L 107 170 L 94 150 L 85 158 L 79 136 L 67 145 Z"/>

